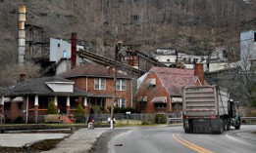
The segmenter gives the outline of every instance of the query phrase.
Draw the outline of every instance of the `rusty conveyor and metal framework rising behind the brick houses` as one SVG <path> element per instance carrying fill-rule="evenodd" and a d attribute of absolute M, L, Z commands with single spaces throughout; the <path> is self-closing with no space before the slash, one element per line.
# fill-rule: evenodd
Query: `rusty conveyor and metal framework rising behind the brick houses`
<path fill-rule="evenodd" d="M 127 72 L 128 75 L 134 78 L 140 77 L 142 74 L 147 72 L 152 66 L 166 67 L 165 64 L 159 62 L 157 59 L 153 57 L 148 57 L 145 54 L 140 53 L 136 50 L 126 49 L 121 48 L 121 46 L 116 47 L 115 56 L 117 57 L 117 59 L 99 56 L 95 53 L 85 50 L 79 50 L 77 52 L 77 55 L 79 57 L 84 57 L 106 66 L 114 67 L 115 65 L 118 65 L 119 70 Z"/>

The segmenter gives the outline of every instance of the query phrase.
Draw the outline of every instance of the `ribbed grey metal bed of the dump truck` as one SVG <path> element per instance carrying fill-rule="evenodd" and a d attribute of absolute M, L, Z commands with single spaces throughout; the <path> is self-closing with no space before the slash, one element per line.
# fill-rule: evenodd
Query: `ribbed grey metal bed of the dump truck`
<path fill-rule="evenodd" d="M 229 94 L 218 86 L 191 86 L 183 88 L 183 115 L 212 116 L 228 113 Z"/>

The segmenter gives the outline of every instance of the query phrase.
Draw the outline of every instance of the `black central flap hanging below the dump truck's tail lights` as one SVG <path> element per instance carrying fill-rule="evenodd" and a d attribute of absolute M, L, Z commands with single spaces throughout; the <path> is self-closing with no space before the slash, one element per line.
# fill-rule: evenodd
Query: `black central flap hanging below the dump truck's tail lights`
<path fill-rule="evenodd" d="M 211 133 L 211 123 L 207 119 L 193 120 L 193 133 Z"/>

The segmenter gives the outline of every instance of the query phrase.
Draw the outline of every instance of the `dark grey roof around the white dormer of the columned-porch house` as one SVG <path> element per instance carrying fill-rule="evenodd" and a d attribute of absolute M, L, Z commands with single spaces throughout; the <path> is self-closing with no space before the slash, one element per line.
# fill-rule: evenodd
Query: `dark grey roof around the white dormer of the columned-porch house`
<path fill-rule="evenodd" d="M 7 96 L 87 96 L 88 93 L 74 87 L 74 92 L 54 92 L 47 86 L 47 82 L 73 83 L 70 80 L 60 77 L 33 78 L 9 86 Z"/>

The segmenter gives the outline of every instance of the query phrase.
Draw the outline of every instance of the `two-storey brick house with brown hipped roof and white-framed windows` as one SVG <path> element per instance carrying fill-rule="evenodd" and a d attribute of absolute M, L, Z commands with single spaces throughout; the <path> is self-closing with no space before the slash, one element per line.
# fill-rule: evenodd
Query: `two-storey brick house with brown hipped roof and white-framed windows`
<path fill-rule="evenodd" d="M 109 111 L 116 93 L 115 106 L 132 107 L 132 80 L 120 71 L 117 72 L 116 91 L 114 89 L 114 69 L 100 64 L 86 63 L 59 75 L 72 80 L 75 86 L 90 93 L 90 106 L 101 106 L 104 112 Z M 102 110 L 102 111 L 103 111 Z"/>

